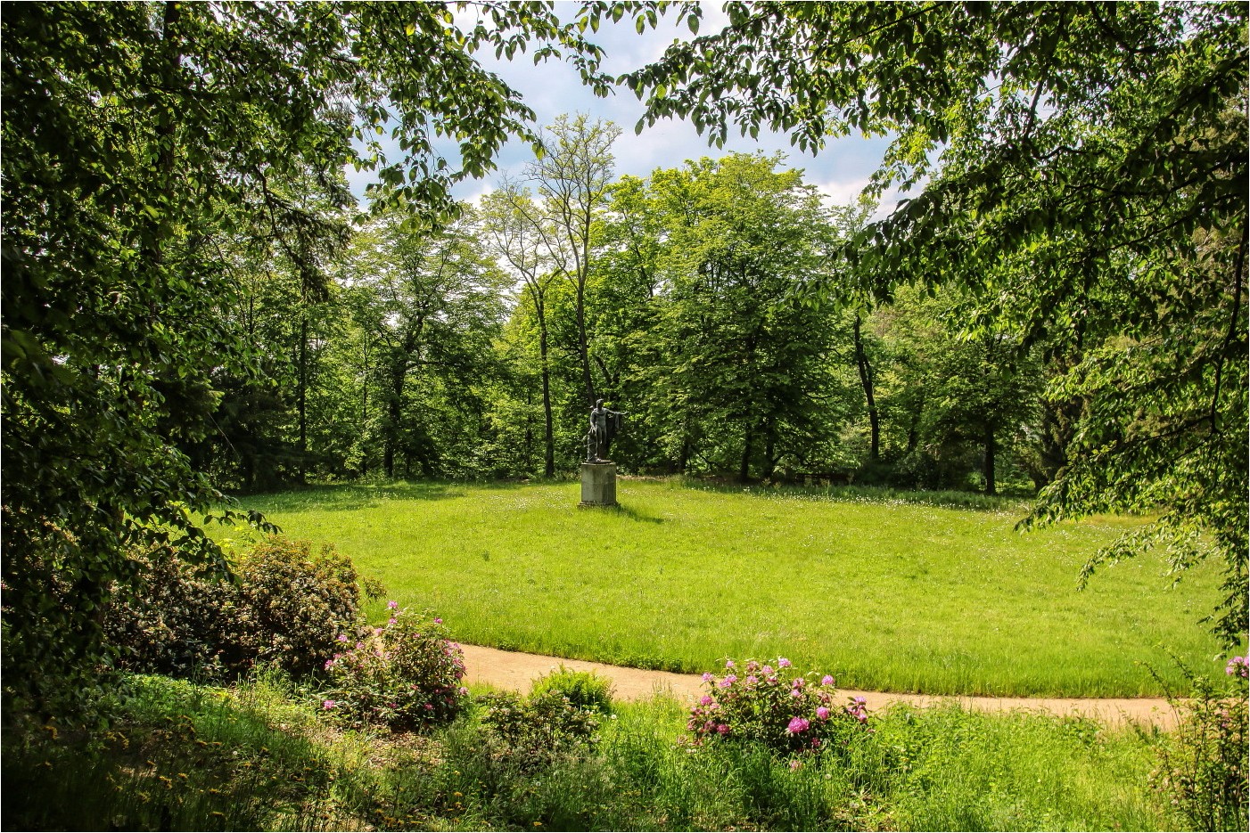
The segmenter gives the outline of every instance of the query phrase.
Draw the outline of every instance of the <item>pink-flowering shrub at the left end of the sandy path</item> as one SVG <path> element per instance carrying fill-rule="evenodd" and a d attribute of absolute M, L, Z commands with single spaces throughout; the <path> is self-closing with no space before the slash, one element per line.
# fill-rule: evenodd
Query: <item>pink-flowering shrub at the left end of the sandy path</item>
<path fill-rule="evenodd" d="M 329 687 L 321 707 L 355 727 L 395 731 L 451 721 L 469 691 L 460 686 L 464 652 L 442 619 L 409 613 L 388 602 L 386 624 L 365 636 L 339 634 L 340 651 L 326 659 Z"/>

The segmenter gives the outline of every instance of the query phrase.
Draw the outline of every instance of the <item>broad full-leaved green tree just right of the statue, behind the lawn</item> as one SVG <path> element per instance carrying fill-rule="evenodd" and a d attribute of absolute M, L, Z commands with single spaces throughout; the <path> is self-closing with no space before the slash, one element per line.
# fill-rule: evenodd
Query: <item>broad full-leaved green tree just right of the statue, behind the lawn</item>
<path fill-rule="evenodd" d="M 779 157 L 731 155 L 656 171 L 666 302 L 658 325 L 661 407 L 681 460 L 771 477 L 804 453 L 829 387 L 831 316 L 791 291 L 821 269 L 829 219 Z M 730 462 L 732 457 L 732 462 Z"/>

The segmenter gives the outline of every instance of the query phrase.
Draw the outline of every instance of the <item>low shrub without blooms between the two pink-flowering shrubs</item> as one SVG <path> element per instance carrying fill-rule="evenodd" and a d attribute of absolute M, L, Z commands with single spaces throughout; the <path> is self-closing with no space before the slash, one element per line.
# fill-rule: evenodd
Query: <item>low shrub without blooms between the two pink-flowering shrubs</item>
<path fill-rule="evenodd" d="M 529 697 L 500 693 L 479 698 L 485 706 L 481 724 L 486 752 L 522 771 L 541 768 L 559 757 L 595 746 L 599 718 L 556 691 L 534 691 Z"/>

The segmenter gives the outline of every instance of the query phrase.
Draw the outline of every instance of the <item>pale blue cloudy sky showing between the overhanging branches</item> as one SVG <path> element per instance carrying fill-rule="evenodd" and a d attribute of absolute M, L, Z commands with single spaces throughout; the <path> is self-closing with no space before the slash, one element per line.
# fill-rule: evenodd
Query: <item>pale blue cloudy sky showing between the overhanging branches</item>
<path fill-rule="evenodd" d="M 579 6 L 578 2 L 555 5 L 556 14 L 562 19 L 571 19 Z M 708 34 L 719 30 L 726 20 L 720 4 L 705 2 L 699 31 Z M 609 75 L 620 75 L 659 59 L 675 37 L 682 40 L 694 37 L 685 24 L 678 27 L 671 15 L 661 17 L 656 29 L 648 29 L 641 35 L 626 16 L 618 24 L 605 21 L 598 34 L 590 35 L 588 31 L 588 36 L 606 51 L 602 69 Z M 765 154 L 781 151 L 786 154 L 784 162 L 786 167 L 802 169 L 805 181 L 815 185 L 834 204 L 842 205 L 852 202 L 868 185 L 889 144 L 888 139 L 846 136 L 829 140 L 825 149 L 814 156 L 792 146 L 785 135 L 761 129 L 759 139 L 752 140 L 738 136 L 731 129 L 724 149 L 718 149 L 709 145 L 708 139 L 700 136 L 691 124 L 681 120 L 662 120 L 635 135 L 634 125 L 642 116 L 645 107 L 634 92 L 625 87 L 618 89 L 606 99 L 600 99 L 581 84 L 572 66 L 560 61 L 549 60 L 535 66 L 528 54 L 519 54 L 512 61 L 508 61 L 495 60 L 494 51 L 479 54 L 478 60 L 521 94 L 541 126 L 550 125 L 561 114 L 578 112 L 616 122 L 622 131 L 612 146 L 618 176 L 629 174 L 646 177 L 658 167 L 678 167 L 688 159 L 702 156 L 715 159 L 734 151 Z M 505 174 L 512 179 L 522 179 L 522 169 L 532 157 L 529 144 L 510 141 L 496 159 L 498 170 L 482 180 L 459 184 L 454 194 L 461 200 L 475 202 L 481 195 L 492 190 Z M 369 171 L 356 174 L 349 169 L 348 177 L 352 191 L 361 196 L 365 185 L 372 180 L 372 174 Z M 879 215 L 888 212 L 885 210 L 892 207 L 898 199 L 898 194 L 886 195 Z"/>

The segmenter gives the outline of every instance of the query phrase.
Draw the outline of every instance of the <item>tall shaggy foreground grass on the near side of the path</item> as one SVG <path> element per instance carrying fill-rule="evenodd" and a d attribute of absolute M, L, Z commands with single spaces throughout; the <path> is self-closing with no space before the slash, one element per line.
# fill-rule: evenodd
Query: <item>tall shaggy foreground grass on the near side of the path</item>
<path fill-rule="evenodd" d="M 598 747 L 518 769 L 475 718 L 430 736 L 330 728 L 272 682 L 138 681 L 100 736 L 4 736 L 5 829 L 1174 829 L 1158 736 L 1036 714 L 898 709 L 790 762 L 678 743 L 671 699 L 615 704 Z M 120 742 L 119 738 L 126 738 Z M 221 746 L 218 746 L 221 744 Z"/>

